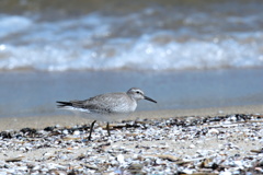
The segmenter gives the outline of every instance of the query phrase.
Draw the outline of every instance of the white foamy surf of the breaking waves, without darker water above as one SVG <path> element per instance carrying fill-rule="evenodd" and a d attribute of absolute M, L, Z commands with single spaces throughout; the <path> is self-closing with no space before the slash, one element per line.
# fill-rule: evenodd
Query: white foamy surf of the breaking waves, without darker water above
<path fill-rule="evenodd" d="M 263 67 L 260 30 L 226 30 L 228 24 L 221 20 L 217 34 L 207 32 L 211 23 L 208 14 L 190 15 L 183 24 L 180 16 L 173 21 L 167 19 L 152 27 L 152 22 L 145 24 L 141 19 L 153 12 L 148 9 L 125 16 L 96 12 L 58 21 L 0 15 L 0 70 L 165 71 Z M 208 26 L 193 26 L 197 25 L 196 18 Z M 251 23 L 248 19 L 228 16 L 227 21 Z M 253 21 L 256 23 L 259 19 Z M 168 24 L 174 26 L 164 27 Z"/>

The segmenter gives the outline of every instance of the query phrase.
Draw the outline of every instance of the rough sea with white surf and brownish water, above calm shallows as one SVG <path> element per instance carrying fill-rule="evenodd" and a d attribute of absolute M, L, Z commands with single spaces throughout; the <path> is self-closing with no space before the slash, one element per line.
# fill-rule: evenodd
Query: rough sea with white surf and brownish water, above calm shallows
<path fill-rule="evenodd" d="M 263 67 L 261 0 L 0 3 L 0 70 Z"/>

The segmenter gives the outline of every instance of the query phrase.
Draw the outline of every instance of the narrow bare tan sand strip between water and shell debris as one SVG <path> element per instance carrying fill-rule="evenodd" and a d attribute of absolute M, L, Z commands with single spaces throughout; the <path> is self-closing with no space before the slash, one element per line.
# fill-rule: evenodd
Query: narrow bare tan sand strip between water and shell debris
<path fill-rule="evenodd" d="M 164 109 L 164 110 L 141 110 L 135 112 L 130 117 L 119 120 L 136 119 L 168 119 L 180 117 L 207 117 L 207 116 L 226 116 L 233 114 L 263 114 L 263 105 L 250 106 L 229 106 L 211 107 L 196 109 Z M 43 129 L 45 127 L 72 127 L 76 125 L 90 125 L 91 119 L 72 115 L 39 116 L 39 117 L 2 117 L 0 118 L 0 131 L 19 130 L 22 128 Z M 113 121 L 114 122 L 114 121 Z M 99 121 L 99 124 L 101 124 Z"/>

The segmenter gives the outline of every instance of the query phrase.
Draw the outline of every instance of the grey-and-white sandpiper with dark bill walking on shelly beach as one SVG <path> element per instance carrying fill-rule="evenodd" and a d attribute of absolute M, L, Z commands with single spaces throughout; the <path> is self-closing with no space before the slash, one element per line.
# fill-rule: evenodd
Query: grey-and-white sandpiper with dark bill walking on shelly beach
<path fill-rule="evenodd" d="M 98 116 L 103 116 L 101 120 L 107 121 L 107 135 L 111 136 L 108 127 L 108 120 L 111 120 L 111 116 L 133 113 L 137 107 L 137 102 L 140 100 L 147 100 L 157 103 L 155 100 L 146 96 L 145 93 L 137 88 L 132 88 L 127 92 L 101 94 L 84 101 L 57 103 L 58 108 L 79 110 L 93 116 L 94 121 L 91 124 L 90 135 L 88 137 L 88 140 L 90 140 Z"/>

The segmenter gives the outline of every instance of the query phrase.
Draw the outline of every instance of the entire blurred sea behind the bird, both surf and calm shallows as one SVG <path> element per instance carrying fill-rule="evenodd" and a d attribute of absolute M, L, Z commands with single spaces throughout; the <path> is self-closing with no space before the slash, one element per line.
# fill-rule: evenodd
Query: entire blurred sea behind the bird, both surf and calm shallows
<path fill-rule="evenodd" d="M 262 0 L 1 0 L 0 117 L 137 86 L 139 110 L 263 104 Z"/>

